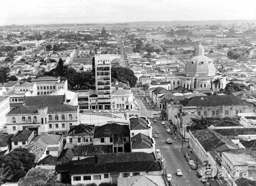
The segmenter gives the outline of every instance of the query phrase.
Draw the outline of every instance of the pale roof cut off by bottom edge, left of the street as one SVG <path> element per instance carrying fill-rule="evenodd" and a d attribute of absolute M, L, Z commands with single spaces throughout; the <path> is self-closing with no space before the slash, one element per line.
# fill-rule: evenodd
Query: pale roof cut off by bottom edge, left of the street
<path fill-rule="evenodd" d="M 142 175 L 131 176 L 126 178 L 117 178 L 118 186 L 166 186 L 163 176 Z"/>

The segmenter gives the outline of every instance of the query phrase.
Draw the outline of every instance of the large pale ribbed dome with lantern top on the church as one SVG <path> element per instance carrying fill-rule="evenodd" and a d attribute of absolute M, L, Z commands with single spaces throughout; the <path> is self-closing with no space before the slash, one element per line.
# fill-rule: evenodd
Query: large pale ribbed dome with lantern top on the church
<path fill-rule="evenodd" d="M 204 48 L 199 43 L 196 48 L 196 55 L 191 58 L 185 66 L 186 73 L 211 73 L 215 75 L 215 67 L 213 61 L 204 56 Z M 210 76 L 210 75 L 207 75 Z"/>

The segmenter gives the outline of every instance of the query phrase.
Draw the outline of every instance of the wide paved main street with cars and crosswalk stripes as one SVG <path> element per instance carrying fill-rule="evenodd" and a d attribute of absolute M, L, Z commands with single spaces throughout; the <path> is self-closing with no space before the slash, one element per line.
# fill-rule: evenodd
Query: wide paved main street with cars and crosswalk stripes
<path fill-rule="evenodd" d="M 192 170 L 191 166 L 184 158 L 184 153 L 189 153 L 192 160 L 196 161 L 196 155 L 194 153 L 191 154 L 189 148 L 187 148 L 187 143 L 183 143 L 183 149 L 181 149 L 182 142 L 175 141 L 174 134 L 168 134 L 164 128 L 164 125 L 161 125 L 161 118 L 160 118 L 160 110 L 158 111 L 158 115 L 154 115 L 155 111 L 149 107 L 149 104 L 146 100 L 141 100 L 141 97 L 144 95 L 138 95 L 138 88 L 132 88 L 134 96 L 138 102 L 138 107 L 140 108 L 139 113 L 142 113 L 142 116 L 150 117 L 151 115 L 157 119 L 157 122 L 154 123 L 153 119 L 150 119 L 152 131 L 155 133 L 156 129 L 159 130 L 158 138 L 155 138 L 156 141 L 156 148 L 159 148 L 162 153 L 162 157 L 167 165 L 167 169 L 170 174 L 173 176 L 173 180 L 175 184 L 177 184 L 178 178 L 178 185 L 182 186 L 203 186 L 203 183 L 196 175 L 196 170 Z M 168 121 L 165 121 L 168 124 Z M 174 133 L 174 129 L 171 127 L 172 132 Z M 167 144 L 166 139 L 172 138 L 173 144 Z M 176 136 L 177 138 L 177 136 Z M 198 162 L 198 166 L 201 167 L 202 163 Z M 183 176 L 177 177 L 176 170 L 181 169 Z"/>

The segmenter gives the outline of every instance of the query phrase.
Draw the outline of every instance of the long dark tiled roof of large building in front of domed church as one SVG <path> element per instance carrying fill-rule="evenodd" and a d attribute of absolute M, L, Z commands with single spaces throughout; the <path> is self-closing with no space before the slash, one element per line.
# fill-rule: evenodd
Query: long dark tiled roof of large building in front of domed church
<path fill-rule="evenodd" d="M 247 101 L 236 97 L 235 95 L 208 95 L 195 96 L 181 101 L 183 106 L 198 106 L 198 107 L 217 107 L 217 106 L 232 106 L 232 105 L 251 105 Z"/>

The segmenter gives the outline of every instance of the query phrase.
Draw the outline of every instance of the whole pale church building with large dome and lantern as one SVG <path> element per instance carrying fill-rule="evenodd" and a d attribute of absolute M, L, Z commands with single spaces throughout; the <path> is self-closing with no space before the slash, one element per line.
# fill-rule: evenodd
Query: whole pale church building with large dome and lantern
<path fill-rule="evenodd" d="M 183 86 L 188 90 L 217 92 L 226 86 L 226 78 L 216 74 L 213 60 L 204 55 L 204 48 L 199 43 L 196 47 L 196 55 L 188 60 L 184 74 L 166 74 L 166 81 L 171 82 L 174 89 Z M 216 86 L 215 86 L 216 85 Z"/>

